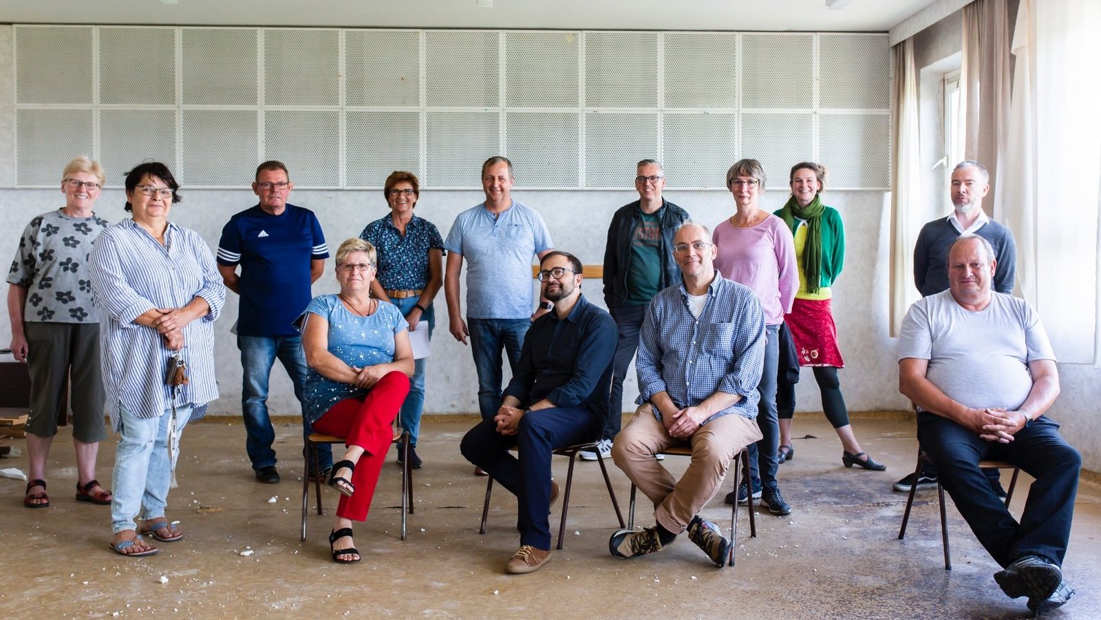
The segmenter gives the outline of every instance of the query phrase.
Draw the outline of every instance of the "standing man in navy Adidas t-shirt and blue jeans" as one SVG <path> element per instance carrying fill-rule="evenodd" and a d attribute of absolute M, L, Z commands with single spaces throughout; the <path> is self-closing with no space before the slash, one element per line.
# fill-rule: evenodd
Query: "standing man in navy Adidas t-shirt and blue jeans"
<path fill-rule="evenodd" d="M 243 367 L 244 447 L 257 480 L 266 483 L 279 482 L 272 448 L 275 429 L 268 415 L 268 380 L 279 358 L 301 404 L 306 358 L 293 322 L 309 304 L 310 285 L 321 275 L 329 257 L 314 213 L 286 202 L 293 188 L 285 165 L 276 161 L 260 164 L 252 184 L 260 203 L 231 217 L 218 241 L 218 271 L 226 287 L 241 296 L 237 348 Z M 312 432 L 305 420 L 303 432 Z M 324 470 L 331 466 L 333 454 L 329 446 L 318 448 Z"/>

